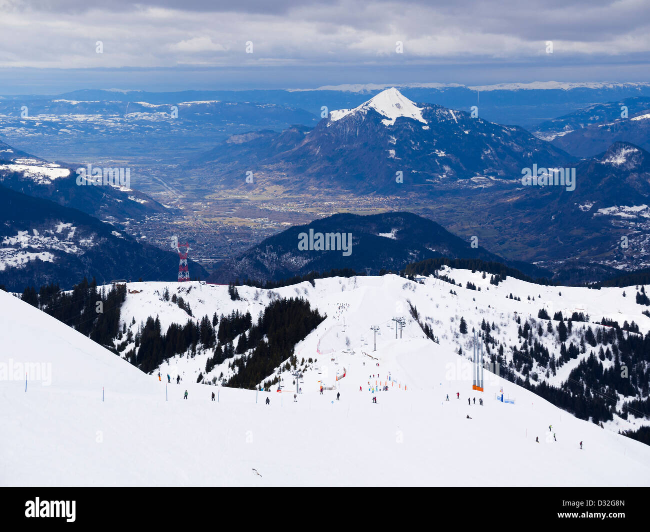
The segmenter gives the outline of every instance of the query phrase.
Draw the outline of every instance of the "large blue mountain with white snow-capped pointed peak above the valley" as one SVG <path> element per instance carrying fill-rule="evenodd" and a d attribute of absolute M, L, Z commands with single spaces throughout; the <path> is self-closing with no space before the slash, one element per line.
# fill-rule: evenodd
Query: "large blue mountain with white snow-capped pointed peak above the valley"
<path fill-rule="evenodd" d="M 239 188 L 246 187 L 240 177 L 250 170 L 292 193 L 427 194 L 433 184 L 513 180 L 535 162 L 562 166 L 571 160 L 521 127 L 414 103 L 391 88 L 359 107 L 331 111 L 309 131 L 229 138 L 200 164 L 209 170 L 209 183 Z"/>

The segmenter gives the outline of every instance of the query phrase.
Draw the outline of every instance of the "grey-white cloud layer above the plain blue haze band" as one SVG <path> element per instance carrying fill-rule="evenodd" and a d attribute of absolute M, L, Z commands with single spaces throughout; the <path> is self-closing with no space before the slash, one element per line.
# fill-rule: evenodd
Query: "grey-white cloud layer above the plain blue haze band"
<path fill-rule="evenodd" d="M 494 64 L 560 73 L 630 63 L 647 71 L 649 60 L 643 0 L 0 0 L 0 68 Z"/>

